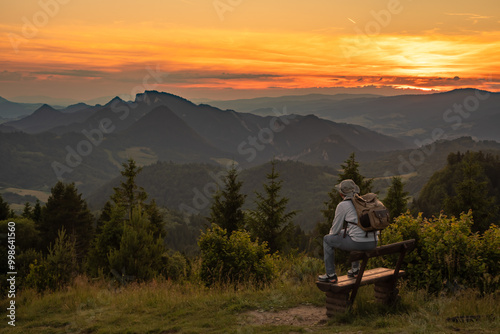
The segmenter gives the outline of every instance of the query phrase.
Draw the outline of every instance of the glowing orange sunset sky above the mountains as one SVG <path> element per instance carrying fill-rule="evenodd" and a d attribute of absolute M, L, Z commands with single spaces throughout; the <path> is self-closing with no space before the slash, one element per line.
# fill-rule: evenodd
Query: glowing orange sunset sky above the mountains
<path fill-rule="evenodd" d="M 394 88 L 500 91 L 498 0 L 22 0 L 0 6 L 0 96 L 7 99 L 84 101 L 145 89 L 207 99 L 352 87 L 381 94 Z"/>

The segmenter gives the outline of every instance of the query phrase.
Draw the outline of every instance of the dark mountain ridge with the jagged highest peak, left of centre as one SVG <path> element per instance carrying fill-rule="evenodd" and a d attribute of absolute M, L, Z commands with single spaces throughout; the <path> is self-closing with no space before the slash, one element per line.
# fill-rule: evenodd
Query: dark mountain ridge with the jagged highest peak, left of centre
<path fill-rule="evenodd" d="M 318 154 L 324 161 L 338 162 L 335 156 L 339 146 L 345 148 L 340 151 L 405 147 L 394 137 L 314 115 L 239 113 L 196 105 L 156 91 L 138 94 L 133 102 L 116 97 L 104 106 L 80 105 L 56 110 L 43 105 L 31 115 L 3 126 L 10 128 L 9 132 L 14 128 L 28 134 L 63 136 L 95 133 L 103 120 L 111 124 L 112 131 L 106 133 L 101 149 L 116 153 L 148 147 L 160 160 L 176 162 L 232 159 L 255 165 L 273 157 L 316 161 Z"/>

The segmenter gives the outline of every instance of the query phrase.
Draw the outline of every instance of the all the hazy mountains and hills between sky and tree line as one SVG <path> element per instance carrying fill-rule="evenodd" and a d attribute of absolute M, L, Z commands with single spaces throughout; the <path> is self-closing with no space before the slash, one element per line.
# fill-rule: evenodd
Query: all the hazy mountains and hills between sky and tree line
<path fill-rule="evenodd" d="M 115 97 L 104 105 L 44 104 L 0 124 L 0 192 L 1 188 L 49 192 L 62 180 L 75 182 L 84 196 L 95 197 L 100 187 L 119 175 L 121 163 L 129 157 L 140 165 L 208 163 L 224 169 L 236 162 L 251 169 L 274 158 L 333 168 L 320 172 L 301 167 L 304 174 L 298 177 L 307 179 L 308 173 L 334 175 L 354 152 L 363 174 L 375 178 L 379 190 L 388 187 L 390 175 L 403 175 L 416 196 L 445 164 L 449 152 L 500 152 L 495 131 L 499 96 L 476 90 L 394 97 L 307 95 L 225 101 L 218 108 L 146 91 L 134 101 Z M 0 117 L 9 118 L 16 110 L 0 108 Z M 353 124 L 356 121 L 359 124 Z M 467 134 L 472 137 L 453 140 Z M 194 173 L 202 172 L 198 168 Z M 176 184 L 193 189 L 180 181 Z M 175 197 L 172 192 L 179 189 L 174 188 L 158 190 L 155 196 Z"/>

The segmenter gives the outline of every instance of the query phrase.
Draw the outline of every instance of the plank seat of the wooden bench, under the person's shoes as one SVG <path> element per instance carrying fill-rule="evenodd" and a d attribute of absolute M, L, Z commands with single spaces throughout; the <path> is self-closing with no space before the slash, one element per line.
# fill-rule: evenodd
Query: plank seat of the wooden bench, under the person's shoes
<path fill-rule="evenodd" d="M 399 271 L 398 277 L 404 276 L 404 271 Z M 394 277 L 394 269 L 389 268 L 375 268 L 365 270 L 363 278 L 361 279 L 360 286 L 372 284 L 384 280 L 389 280 Z M 323 292 L 331 291 L 338 292 L 343 290 L 352 289 L 356 284 L 356 278 L 350 278 L 347 275 L 341 276 L 338 283 L 316 282 L 316 286 Z"/>

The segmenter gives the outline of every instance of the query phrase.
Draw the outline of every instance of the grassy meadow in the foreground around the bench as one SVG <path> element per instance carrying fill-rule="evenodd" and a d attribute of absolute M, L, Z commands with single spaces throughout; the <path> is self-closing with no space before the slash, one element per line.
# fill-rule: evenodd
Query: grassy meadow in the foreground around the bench
<path fill-rule="evenodd" d="M 401 288 L 394 307 L 373 301 L 370 286 L 360 289 L 349 314 L 304 325 L 258 324 L 248 311 L 276 314 L 301 305 L 324 308 L 324 295 L 310 275 L 301 281 L 276 280 L 263 289 L 206 288 L 194 282 L 153 281 L 116 287 L 78 278 L 62 291 L 16 296 L 16 327 L 0 333 L 497 333 L 500 306 L 495 295 L 475 291 L 428 296 Z M 8 300 L 1 302 L 7 307 Z M 472 316 L 472 317 L 471 317 Z M 447 320 L 448 319 L 448 320 Z M 319 322 L 319 324 L 317 323 Z M 8 327 L 8 328 L 7 328 Z"/>

